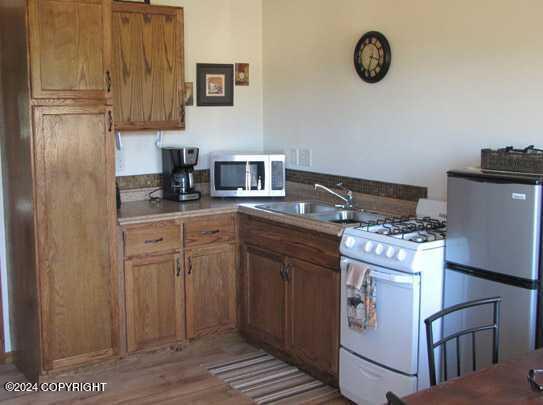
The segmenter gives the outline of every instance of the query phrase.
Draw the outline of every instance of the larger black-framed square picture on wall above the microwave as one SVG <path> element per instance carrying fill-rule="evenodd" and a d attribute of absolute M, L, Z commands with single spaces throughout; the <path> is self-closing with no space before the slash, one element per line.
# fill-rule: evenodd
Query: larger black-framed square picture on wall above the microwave
<path fill-rule="evenodd" d="M 204 107 L 234 105 L 234 65 L 196 65 L 197 104 Z"/>

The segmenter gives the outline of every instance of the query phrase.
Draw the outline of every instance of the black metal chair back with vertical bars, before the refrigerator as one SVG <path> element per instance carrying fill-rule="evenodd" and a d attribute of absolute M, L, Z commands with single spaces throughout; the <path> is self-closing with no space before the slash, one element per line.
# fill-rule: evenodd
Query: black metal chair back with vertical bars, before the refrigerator
<path fill-rule="evenodd" d="M 436 376 L 436 361 L 435 361 L 435 349 L 437 347 L 443 346 L 443 376 L 444 381 L 448 379 L 448 367 L 447 367 L 447 343 L 451 340 L 456 340 L 456 371 L 457 376 L 460 376 L 460 338 L 465 335 L 471 335 L 472 341 L 472 368 L 473 371 L 477 369 L 477 346 L 475 336 L 477 333 L 484 331 L 492 331 L 492 363 L 496 364 L 498 362 L 498 352 L 500 345 L 500 297 L 484 298 L 480 300 L 474 300 L 465 302 L 462 304 L 454 305 L 449 308 L 445 308 L 429 318 L 424 320 L 426 324 L 426 338 L 427 338 L 427 348 L 428 348 L 428 366 L 430 367 L 430 384 L 437 384 Z M 467 328 L 460 331 L 457 331 L 449 336 L 446 336 L 437 342 L 434 342 L 434 334 L 432 328 L 432 322 L 437 319 L 441 319 L 446 315 L 452 314 L 454 312 L 463 311 L 468 308 L 479 307 L 483 305 L 492 305 L 493 306 L 493 322 L 473 328 Z"/>

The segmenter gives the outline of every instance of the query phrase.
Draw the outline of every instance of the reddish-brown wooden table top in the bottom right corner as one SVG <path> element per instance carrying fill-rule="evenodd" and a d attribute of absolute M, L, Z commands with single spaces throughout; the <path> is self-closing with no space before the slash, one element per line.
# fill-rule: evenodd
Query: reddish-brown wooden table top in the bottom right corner
<path fill-rule="evenodd" d="M 532 368 L 543 368 L 543 349 L 449 380 L 402 400 L 408 405 L 543 404 L 543 393 L 533 391 L 528 383 L 528 371 Z M 543 384 L 543 376 L 537 382 Z"/>

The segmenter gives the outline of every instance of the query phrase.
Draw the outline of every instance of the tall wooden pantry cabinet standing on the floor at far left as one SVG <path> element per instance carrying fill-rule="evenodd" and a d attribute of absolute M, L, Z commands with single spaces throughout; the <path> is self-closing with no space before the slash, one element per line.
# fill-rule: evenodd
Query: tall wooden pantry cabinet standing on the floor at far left
<path fill-rule="evenodd" d="M 0 125 L 17 367 L 119 350 L 111 0 L 0 2 Z"/>

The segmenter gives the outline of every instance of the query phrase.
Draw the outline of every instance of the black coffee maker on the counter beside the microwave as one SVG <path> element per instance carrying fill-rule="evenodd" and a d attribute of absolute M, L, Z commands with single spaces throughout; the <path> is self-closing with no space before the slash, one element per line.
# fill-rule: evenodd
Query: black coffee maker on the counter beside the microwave
<path fill-rule="evenodd" d="M 194 189 L 198 152 L 194 147 L 162 148 L 163 198 L 179 202 L 200 198 L 200 192 Z"/>

